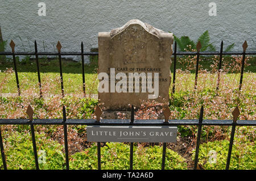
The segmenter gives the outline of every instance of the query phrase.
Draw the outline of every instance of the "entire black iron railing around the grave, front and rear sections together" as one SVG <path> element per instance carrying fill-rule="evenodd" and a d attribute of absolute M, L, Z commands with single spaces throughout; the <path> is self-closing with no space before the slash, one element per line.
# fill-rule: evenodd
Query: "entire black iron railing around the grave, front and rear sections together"
<path fill-rule="evenodd" d="M 0 52 L 0 55 L 11 55 L 13 56 L 14 61 L 14 70 L 15 70 L 15 77 L 16 77 L 16 85 L 18 89 L 18 95 L 20 95 L 20 87 L 19 87 L 19 78 L 18 78 L 18 71 L 16 68 L 16 57 L 18 55 L 23 56 L 35 56 L 36 58 L 36 67 L 38 71 L 38 82 L 39 82 L 39 91 L 40 97 L 42 97 L 42 86 L 41 86 L 41 79 L 40 79 L 40 67 L 39 67 L 39 58 L 38 56 L 58 56 L 59 57 L 59 64 L 60 64 L 60 83 L 61 83 L 61 94 L 64 96 L 64 86 L 63 86 L 63 76 L 62 76 L 62 69 L 61 69 L 61 56 L 81 56 L 82 59 L 82 87 L 85 96 L 85 73 L 84 73 L 84 56 L 96 56 L 98 52 L 84 52 L 83 43 L 81 43 L 81 52 L 61 52 L 61 44 L 57 43 L 58 53 L 52 52 L 38 52 L 38 47 L 35 41 L 35 52 L 15 52 L 15 44 L 11 41 L 10 46 L 12 48 L 12 52 Z M 221 61 L 222 55 L 227 54 L 234 54 L 234 55 L 242 55 L 242 66 L 241 66 L 241 76 L 240 76 L 240 86 L 239 89 L 241 90 L 242 87 L 242 79 L 243 79 L 243 69 L 245 64 L 245 56 L 246 55 L 255 55 L 256 52 L 246 52 L 247 43 L 243 43 L 243 52 L 222 52 L 223 49 L 223 42 L 221 43 L 221 50 L 220 52 L 200 52 L 200 42 L 197 44 L 197 52 L 177 52 L 177 44 L 174 44 L 174 76 L 173 76 L 173 87 L 172 92 L 175 92 L 175 75 L 176 75 L 176 57 L 182 55 L 196 55 L 196 77 L 195 77 L 195 89 L 197 88 L 197 75 L 199 69 L 199 57 L 200 55 L 219 55 L 220 61 L 218 66 L 218 80 L 217 80 L 217 87 L 218 90 L 219 86 L 219 79 L 220 79 L 220 70 L 221 70 Z M 170 110 L 169 110 L 170 111 Z M 199 147 L 200 147 L 200 138 L 201 138 L 201 130 L 203 126 L 210 126 L 210 125 L 217 125 L 217 126 L 232 126 L 232 132 L 230 135 L 230 144 L 229 144 L 229 151 L 227 155 L 226 161 L 226 169 L 229 169 L 230 157 L 232 153 L 232 146 L 234 140 L 234 133 L 236 131 L 237 126 L 255 126 L 256 120 L 237 120 L 237 117 L 240 115 L 238 108 L 233 111 L 233 120 L 203 120 L 203 113 L 204 108 L 201 107 L 200 110 L 200 118 L 199 120 L 169 120 L 168 116 L 165 120 L 136 120 L 134 119 L 134 108 L 131 108 L 131 119 L 105 119 L 99 120 L 100 117 L 97 115 L 97 119 L 67 119 L 66 118 L 66 111 L 65 107 L 63 107 L 63 119 L 33 119 L 34 111 L 29 106 L 27 110 L 27 114 L 30 119 L 0 119 L 0 125 L 30 125 L 31 126 L 31 137 L 32 137 L 32 144 L 34 149 L 34 156 L 35 156 L 35 165 L 36 169 L 39 169 L 38 164 L 38 156 L 36 150 L 36 140 L 35 140 L 35 131 L 34 125 L 63 125 L 64 129 L 64 144 L 65 144 L 65 160 L 66 160 L 66 169 L 69 169 L 69 162 L 68 162 L 68 138 L 67 138 L 67 125 L 143 125 L 143 126 L 153 126 L 153 125 L 196 125 L 198 127 L 197 131 L 197 142 L 196 142 L 196 152 L 195 152 L 195 163 L 194 169 L 197 168 L 198 162 L 198 155 L 199 155 Z M 97 114 L 97 113 L 96 113 Z M 163 153 L 162 153 L 162 169 L 164 170 L 165 166 L 165 159 L 166 159 L 166 143 L 163 143 Z M 1 148 L 1 155 L 3 161 L 4 169 L 7 169 L 6 165 L 6 157 L 3 148 L 3 141 L 2 141 L 2 134 L 0 129 L 0 148 Z M 98 169 L 101 169 L 101 153 L 100 153 L 100 142 L 97 142 L 97 152 L 98 152 Z M 133 143 L 130 143 L 130 169 L 133 169 Z"/>

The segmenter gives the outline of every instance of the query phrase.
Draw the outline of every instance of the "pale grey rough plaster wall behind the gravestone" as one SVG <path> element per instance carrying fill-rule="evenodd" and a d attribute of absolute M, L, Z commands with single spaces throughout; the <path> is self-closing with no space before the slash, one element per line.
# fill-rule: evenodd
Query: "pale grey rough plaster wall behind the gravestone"
<path fill-rule="evenodd" d="M 39 2 L 46 3 L 46 16 L 38 15 Z M 216 3 L 217 16 L 209 16 L 210 2 Z M 98 47 L 98 32 L 121 27 L 130 19 L 139 19 L 160 30 L 171 31 L 178 37 L 189 36 L 195 41 L 208 30 L 217 50 L 221 40 L 224 47 L 236 43 L 234 50 L 239 51 L 242 51 L 243 41 L 247 40 L 247 50 L 255 50 L 255 15 L 254 0 L 0 0 L 3 39 L 13 39 L 17 51 L 34 50 L 34 40 L 38 42 L 39 51 L 44 51 L 44 48 L 56 51 L 58 40 L 63 51 L 80 51 L 81 41 L 85 51 L 89 51 Z M 9 46 L 6 50 L 10 50 Z"/>

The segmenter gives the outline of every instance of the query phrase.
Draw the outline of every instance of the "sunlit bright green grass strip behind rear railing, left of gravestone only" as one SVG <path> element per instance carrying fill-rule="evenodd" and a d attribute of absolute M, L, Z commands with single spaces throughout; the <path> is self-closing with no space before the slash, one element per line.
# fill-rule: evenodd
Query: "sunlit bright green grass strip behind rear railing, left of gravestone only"
<path fill-rule="evenodd" d="M 3 77 L 5 76 L 4 73 L 0 73 L 0 82 L 2 81 Z M 28 90 L 30 88 L 38 89 L 38 74 L 33 72 L 21 72 L 18 73 L 19 77 L 19 84 L 20 84 L 20 90 Z M 41 82 L 42 82 L 42 88 L 47 85 L 47 83 L 52 82 L 53 89 L 49 90 L 48 93 L 51 94 L 60 94 L 60 74 L 58 73 L 41 73 Z M 86 85 L 86 92 L 87 94 L 97 94 L 97 74 L 85 74 L 85 85 Z M 95 82 L 96 83 L 93 83 Z M 63 73 L 63 85 L 64 85 L 64 92 L 65 93 L 75 93 L 75 92 L 81 92 L 82 91 L 82 74 L 76 74 L 76 73 Z M 91 89 L 94 87 L 95 89 Z M 10 75 L 10 78 L 7 80 L 5 86 L 2 87 L 2 93 L 16 93 L 17 87 L 16 87 L 16 79 L 15 79 L 15 73 Z"/>

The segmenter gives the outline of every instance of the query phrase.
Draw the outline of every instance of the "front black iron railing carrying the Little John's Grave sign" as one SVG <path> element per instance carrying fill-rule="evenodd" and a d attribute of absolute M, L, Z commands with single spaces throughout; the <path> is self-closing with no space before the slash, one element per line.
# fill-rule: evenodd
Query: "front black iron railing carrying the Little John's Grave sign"
<path fill-rule="evenodd" d="M 98 121 L 97 119 L 67 119 L 65 107 L 63 107 L 63 119 L 33 119 L 32 116 L 33 116 L 34 112 L 31 108 L 31 106 L 28 106 L 27 114 L 30 117 L 30 119 L 0 119 L 0 125 L 30 125 L 36 169 L 39 169 L 39 164 L 38 164 L 38 155 L 37 155 L 37 150 L 36 150 L 34 125 L 63 125 L 64 145 L 65 145 L 65 163 L 66 163 L 67 170 L 69 169 L 67 125 L 113 125 L 113 126 L 115 126 L 115 125 L 136 125 L 136 126 L 139 126 L 139 125 L 141 125 L 141 126 L 196 125 L 198 127 L 198 131 L 197 131 L 197 141 L 196 141 L 196 151 L 195 151 L 195 162 L 194 162 L 194 167 L 193 167 L 194 169 L 197 169 L 202 127 L 203 126 L 212 126 L 212 125 L 214 125 L 214 126 L 232 126 L 229 150 L 228 150 L 227 161 L 226 161 L 226 170 L 228 170 L 236 127 L 237 126 L 255 126 L 256 120 L 237 120 L 237 117 L 240 115 L 238 107 L 236 107 L 232 113 L 233 120 L 204 120 L 203 113 L 204 113 L 204 108 L 202 106 L 201 110 L 200 110 L 199 120 L 197 120 L 197 119 L 169 120 L 168 117 L 166 117 L 167 121 L 164 119 L 137 120 L 137 119 L 134 119 L 134 109 L 132 106 L 131 119 L 102 119 L 102 120 Z M 100 115 L 97 115 L 97 117 L 99 117 L 99 116 Z M 167 145 L 166 143 L 163 143 L 162 170 L 164 170 L 164 167 L 165 167 L 166 145 Z M 0 129 L 0 148 L 1 148 L 3 168 L 7 169 L 6 156 L 5 156 L 5 151 L 3 148 L 1 129 Z M 98 169 L 101 169 L 101 149 L 100 148 L 101 148 L 101 142 L 97 142 Z M 133 169 L 133 142 L 130 143 L 130 169 L 131 170 Z"/>

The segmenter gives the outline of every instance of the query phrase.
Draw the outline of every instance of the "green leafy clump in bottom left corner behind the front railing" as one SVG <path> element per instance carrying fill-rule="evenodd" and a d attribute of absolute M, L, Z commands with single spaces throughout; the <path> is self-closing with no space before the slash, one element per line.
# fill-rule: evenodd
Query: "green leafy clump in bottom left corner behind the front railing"
<path fill-rule="evenodd" d="M 7 169 L 30 170 L 35 169 L 35 158 L 30 132 L 8 132 L 5 136 L 5 154 Z M 46 137 L 44 133 L 35 132 L 36 146 L 39 150 L 46 151 L 46 163 L 39 163 L 39 169 L 65 169 L 63 145 Z M 38 154 L 40 159 L 42 155 Z M 0 169 L 3 168 L 2 159 Z"/>

